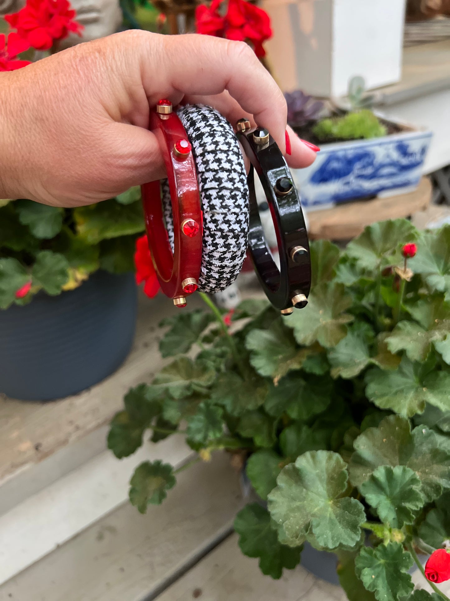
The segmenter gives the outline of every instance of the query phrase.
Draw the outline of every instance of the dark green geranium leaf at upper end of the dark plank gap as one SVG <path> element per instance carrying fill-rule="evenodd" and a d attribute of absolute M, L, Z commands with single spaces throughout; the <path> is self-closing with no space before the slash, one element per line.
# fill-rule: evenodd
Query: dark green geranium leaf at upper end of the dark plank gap
<path fill-rule="evenodd" d="M 257 503 L 246 505 L 235 519 L 235 531 L 239 534 L 239 547 L 244 555 L 258 557 L 263 574 L 281 578 L 283 569 L 293 570 L 300 562 L 301 548 L 290 549 L 278 542 L 277 532 L 271 525 L 271 517 Z"/>

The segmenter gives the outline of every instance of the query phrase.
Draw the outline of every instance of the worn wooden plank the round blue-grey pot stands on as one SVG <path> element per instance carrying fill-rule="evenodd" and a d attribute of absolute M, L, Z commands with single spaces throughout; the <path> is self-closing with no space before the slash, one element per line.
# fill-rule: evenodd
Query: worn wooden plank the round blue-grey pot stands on
<path fill-rule="evenodd" d="M 150 300 L 140 294 L 139 299 L 133 349 L 115 374 L 85 392 L 48 403 L 27 403 L 0 395 L 0 486 L 107 424 L 122 408 L 128 388 L 148 382 L 160 370 L 163 359 L 158 352 L 161 334 L 157 325 L 177 309 L 162 295 Z M 192 308 L 200 304 L 199 298 L 190 301 Z"/>

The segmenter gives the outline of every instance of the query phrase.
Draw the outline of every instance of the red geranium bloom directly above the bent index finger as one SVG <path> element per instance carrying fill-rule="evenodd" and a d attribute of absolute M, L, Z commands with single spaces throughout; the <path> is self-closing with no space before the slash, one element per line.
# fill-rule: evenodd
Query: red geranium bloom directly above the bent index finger
<path fill-rule="evenodd" d="M 228 40 L 248 40 L 259 58 L 265 56 L 263 42 L 272 35 L 271 21 L 265 10 L 245 0 L 229 0 L 227 14 L 220 16 L 221 0 L 213 0 L 208 8 L 196 9 L 197 33 L 224 37 Z"/>

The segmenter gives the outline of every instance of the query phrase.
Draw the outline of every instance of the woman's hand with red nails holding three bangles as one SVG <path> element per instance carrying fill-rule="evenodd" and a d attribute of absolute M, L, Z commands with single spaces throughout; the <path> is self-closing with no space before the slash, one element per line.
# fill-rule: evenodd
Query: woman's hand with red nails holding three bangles
<path fill-rule="evenodd" d="M 286 148 L 286 102 L 247 44 L 125 31 L 0 73 L 0 198 L 73 207 L 163 177 L 146 129 L 161 98 L 248 117 Z M 289 165 L 310 165 L 314 151 L 290 141 Z"/>

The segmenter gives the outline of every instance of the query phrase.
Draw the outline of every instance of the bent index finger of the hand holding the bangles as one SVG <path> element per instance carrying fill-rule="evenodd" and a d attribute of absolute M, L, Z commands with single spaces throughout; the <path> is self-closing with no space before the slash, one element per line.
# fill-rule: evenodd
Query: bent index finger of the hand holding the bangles
<path fill-rule="evenodd" d="M 159 35 L 143 61 L 142 83 L 151 104 L 161 94 L 211 96 L 227 90 L 286 150 L 286 100 L 272 76 L 245 42 L 210 35 Z M 234 124 L 233 124 L 234 125 Z"/>

